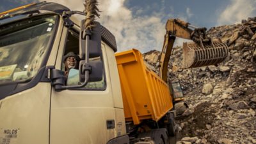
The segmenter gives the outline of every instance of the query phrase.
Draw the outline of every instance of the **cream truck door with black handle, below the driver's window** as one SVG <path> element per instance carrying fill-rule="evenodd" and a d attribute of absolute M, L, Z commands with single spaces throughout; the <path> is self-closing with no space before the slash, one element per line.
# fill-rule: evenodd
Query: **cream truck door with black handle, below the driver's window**
<path fill-rule="evenodd" d="M 64 31 L 56 61 L 56 69 L 63 71 L 63 56 L 68 52 L 79 52 L 79 34 L 66 27 Z M 115 137 L 115 109 L 104 45 L 102 53 L 104 80 L 88 83 L 81 89 L 60 92 L 52 89 L 50 143 L 98 144 L 107 143 Z M 70 84 L 70 81 L 67 83 Z"/>

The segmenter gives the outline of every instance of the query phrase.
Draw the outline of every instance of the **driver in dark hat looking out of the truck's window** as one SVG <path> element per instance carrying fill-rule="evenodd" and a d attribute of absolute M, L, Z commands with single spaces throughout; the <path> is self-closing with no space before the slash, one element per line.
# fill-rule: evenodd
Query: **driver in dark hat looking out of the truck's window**
<path fill-rule="evenodd" d="M 78 62 L 79 57 L 78 55 L 74 54 L 74 52 L 68 52 L 68 54 L 64 56 L 65 76 L 68 77 L 68 72 L 70 69 L 78 69 Z"/>

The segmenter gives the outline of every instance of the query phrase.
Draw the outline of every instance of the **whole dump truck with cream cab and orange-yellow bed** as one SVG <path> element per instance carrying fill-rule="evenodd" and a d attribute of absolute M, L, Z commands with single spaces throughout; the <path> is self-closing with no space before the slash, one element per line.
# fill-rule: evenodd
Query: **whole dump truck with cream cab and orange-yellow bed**
<path fill-rule="evenodd" d="M 97 1 L 84 6 L 0 13 L 0 143 L 162 144 L 175 135 L 168 82 L 138 50 L 116 53 L 115 36 L 95 21 Z M 66 77 L 68 52 L 81 61 Z"/>

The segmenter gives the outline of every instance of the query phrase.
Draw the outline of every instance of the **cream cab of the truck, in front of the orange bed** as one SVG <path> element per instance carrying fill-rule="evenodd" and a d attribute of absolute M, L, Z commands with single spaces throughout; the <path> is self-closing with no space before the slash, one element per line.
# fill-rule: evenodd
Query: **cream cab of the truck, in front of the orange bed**
<path fill-rule="evenodd" d="M 79 54 L 81 24 L 65 11 L 70 10 L 43 2 L 0 16 L 0 143 L 129 141 L 116 42 L 108 29 L 100 26 L 100 55 L 89 57 L 102 63 L 92 69 L 102 71 L 101 80 L 72 87 L 70 72 L 62 78 L 65 89 L 54 87 L 64 76 L 64 55 Z"/>

